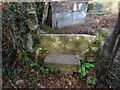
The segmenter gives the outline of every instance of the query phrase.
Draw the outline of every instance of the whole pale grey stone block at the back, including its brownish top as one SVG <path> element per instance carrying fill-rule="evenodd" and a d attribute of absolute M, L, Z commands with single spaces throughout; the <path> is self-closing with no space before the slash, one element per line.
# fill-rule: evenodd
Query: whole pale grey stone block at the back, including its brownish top
<path fill-rule="evenodd" d="M 52 5 L 52 28 L 85 23 L 87 4 L 84 2 L 57 2 Z"/>

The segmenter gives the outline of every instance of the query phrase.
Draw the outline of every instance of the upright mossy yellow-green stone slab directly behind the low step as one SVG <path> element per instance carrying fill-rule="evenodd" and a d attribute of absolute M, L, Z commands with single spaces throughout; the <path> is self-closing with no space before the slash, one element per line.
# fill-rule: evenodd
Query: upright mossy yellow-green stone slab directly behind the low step
<path fill-rule="evenodd" d="M 87 50 L 87 46 L 96 39 L 96 36 L 84 34 L 41 34 L 40 36 L 40 41 L 49 52 L 79 53 L 79 55 L 83 55 Z"/>

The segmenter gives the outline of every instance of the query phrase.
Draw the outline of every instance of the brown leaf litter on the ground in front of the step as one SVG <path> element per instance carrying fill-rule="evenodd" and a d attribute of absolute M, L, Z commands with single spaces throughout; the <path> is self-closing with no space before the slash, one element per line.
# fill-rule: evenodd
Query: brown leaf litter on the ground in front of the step
<path fill-rule="evenodd" d="M 78 75 L 40 74 L 37 77 L 20 79 L 23 80 L 19 85 L 12 79 L 11 82 L 4 81 L 3 88 L 92 88 L 87 84 L 86 78 L 80 79 Z M 108 88 L 107 85 L 104 87 Z"/>

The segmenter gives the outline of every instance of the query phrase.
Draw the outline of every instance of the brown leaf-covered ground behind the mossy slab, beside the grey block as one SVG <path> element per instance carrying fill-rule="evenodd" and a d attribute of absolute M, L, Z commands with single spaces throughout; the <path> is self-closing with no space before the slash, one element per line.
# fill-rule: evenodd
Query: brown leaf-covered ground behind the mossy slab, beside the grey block
<path fill-rule="evenodd" d="M 115 26 L 117 16 L 111 14 L 96 15 L 87 14 L 84 24 L 77 24 L 61 29 L 54 29 L 51 34 L 95 34 L 99 28 L 112 30 Z"/>

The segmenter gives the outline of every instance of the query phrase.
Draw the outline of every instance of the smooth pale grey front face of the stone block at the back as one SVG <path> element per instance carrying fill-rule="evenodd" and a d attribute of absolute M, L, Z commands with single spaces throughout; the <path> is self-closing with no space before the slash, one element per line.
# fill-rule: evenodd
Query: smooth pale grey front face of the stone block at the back
<path fill-rule="evenodd" d="M 53 19 L 53 28 L 54 26 L 57 28 L 62 28 L 65 26 L 85 23 L 85 16 L 81 12 L 57 13 L 55 17 L 55 21 Z"/>

